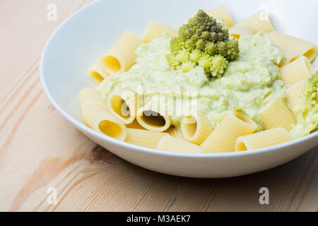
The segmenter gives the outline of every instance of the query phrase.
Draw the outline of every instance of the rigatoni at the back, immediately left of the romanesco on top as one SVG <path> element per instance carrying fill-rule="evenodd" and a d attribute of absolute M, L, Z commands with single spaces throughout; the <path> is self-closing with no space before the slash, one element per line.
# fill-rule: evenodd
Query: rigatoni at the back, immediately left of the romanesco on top
<path fill-rule="evenodd" d="M 164 23 L 155 23 L 149 21 L 145 32 L 143 33 L 143 43 L 152 42 L 154 39 L 161 37 L 165 34 L 169 34 L 170 37 L 175 37 L 178 35 L 178 31 L 175 28 L 171 28 Z"/>

